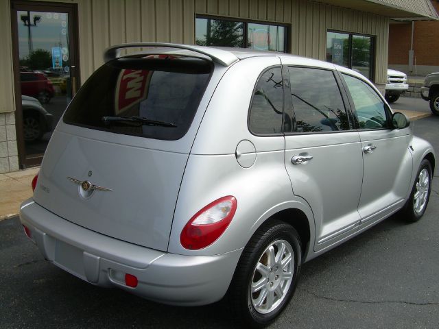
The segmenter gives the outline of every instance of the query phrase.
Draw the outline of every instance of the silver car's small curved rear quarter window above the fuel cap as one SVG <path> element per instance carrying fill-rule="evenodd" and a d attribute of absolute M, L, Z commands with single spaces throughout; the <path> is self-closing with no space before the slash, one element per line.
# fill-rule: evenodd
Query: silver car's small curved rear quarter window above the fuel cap
<path fill-rule="evenodd" d="M 249 128 L 254 134 L 282 133 L 282 71 L 274 67 L 265 71 L 254 88 Z"/>

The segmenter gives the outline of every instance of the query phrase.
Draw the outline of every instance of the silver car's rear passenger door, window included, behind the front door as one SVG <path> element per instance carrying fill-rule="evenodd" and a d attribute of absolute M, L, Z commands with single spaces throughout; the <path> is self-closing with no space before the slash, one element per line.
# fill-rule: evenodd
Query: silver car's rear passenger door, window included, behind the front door
<path fill-rule="evenodd" d="M 338 75 L 298 66 L 287 67 L 286 74 L 291 88 L 285 101 L 294 111 L 291 130 L 285 132 L 285 167 L 293 193 L 313 210 L 318 251 L 359 225 L 361 143 Z"/>

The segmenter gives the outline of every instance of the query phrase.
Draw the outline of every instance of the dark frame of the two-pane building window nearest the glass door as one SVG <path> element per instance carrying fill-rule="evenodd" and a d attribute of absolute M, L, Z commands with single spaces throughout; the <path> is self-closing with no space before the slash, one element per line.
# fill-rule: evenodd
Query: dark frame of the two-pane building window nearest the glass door
<path fill-rule="evenodd" d="M 230 16 L 215 16 L 215 15 L 209 15 L 209 14 L 195 14 L 195 28 L 193 31 L 193 36 L 194 36 L 194 42 L 196 41 L 196 31 L 197 31 L 197 19 L 215 19 L 217 21 L 221 20 L 221 21 L 231 21 L 231 22 L 236 22 L 236 23 L 243 23 L 243 43 L 244 43 L 244 48 L 245 49 L 253 49 L 253 48 L 248 48 L 248 23 L 254 23 L 254 24 L 262 24 L 262 25 L 272 25 L 272 26 L 281 26 L 281 27 L 285 27 L 285 35 L 284 35 L 284 40 L 283 40 L 283 49 L 285 49 L 285 51 L 283 51 L 283 53 L 291 53 L 291 40 L 289 38 L 289 36 L 291 35 L 291 24 L 288 23 L 278 23 L 278 22 L 273 22 L 273 21 L 258 21 L 258 20 L 254 20 L 254 19 L 242 19 L 242 18 L 238 18 L 238 17 L 230 17 Z M 215 46 L 212 46 L 215 47 Z M 257 49 L 255 49 L 257 50 Z M 272 50 L 266 50 L 266 51 L 272 51 Z"/>

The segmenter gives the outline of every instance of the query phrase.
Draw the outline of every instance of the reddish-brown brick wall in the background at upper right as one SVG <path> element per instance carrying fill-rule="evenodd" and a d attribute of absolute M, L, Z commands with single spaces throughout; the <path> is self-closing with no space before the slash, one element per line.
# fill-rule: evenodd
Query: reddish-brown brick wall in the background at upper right
<path fill-rule="evenodd" d="M 431 0 L 439 12 L 439 1 Z M 412 23 L 392 23 L 389 27 L 389 64 L 409 63 Z M 416 65 L 439 66 L 439 21 L 414 23 L 413 50 Z M 415 63 L 414 63 L 415 64 Z"/>

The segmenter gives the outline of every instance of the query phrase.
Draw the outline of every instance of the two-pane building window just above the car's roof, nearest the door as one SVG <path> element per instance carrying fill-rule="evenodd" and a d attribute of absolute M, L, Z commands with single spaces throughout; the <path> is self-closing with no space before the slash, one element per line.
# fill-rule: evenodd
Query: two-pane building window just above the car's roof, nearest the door
<path fill-rule="evenodd" d="M 247 23 L 227 19 L 195 19 L 195 44 L 287 51 L 287 28 L 275 24 Z"/>

